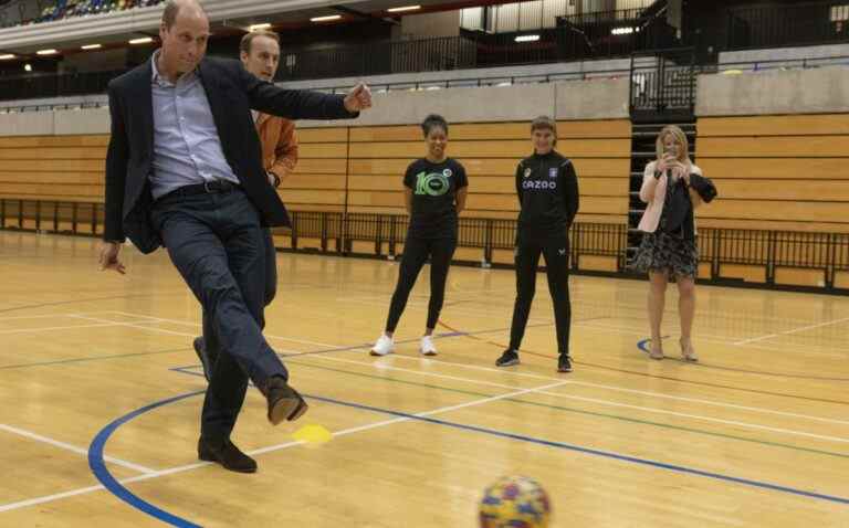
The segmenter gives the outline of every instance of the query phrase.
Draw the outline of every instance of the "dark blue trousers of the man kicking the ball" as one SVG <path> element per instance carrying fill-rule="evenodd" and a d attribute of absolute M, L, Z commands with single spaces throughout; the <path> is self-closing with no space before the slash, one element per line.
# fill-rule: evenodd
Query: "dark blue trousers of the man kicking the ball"
<path fill-rule="evenodd" d="M 220 353 L 201 415 L 201 435 L 228 437 L 248 380 L 264 386 L 289 372 L 262 337 L 265 250 L 256 209 L 241 190 L 169 196 L 151 220 L 174 265 L 211 321 Z"/>

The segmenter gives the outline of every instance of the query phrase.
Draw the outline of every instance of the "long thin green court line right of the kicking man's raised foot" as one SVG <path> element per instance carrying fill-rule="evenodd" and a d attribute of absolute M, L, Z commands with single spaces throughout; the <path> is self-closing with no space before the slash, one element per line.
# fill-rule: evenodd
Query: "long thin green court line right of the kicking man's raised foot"
<path fill-rule="evenodd" d="M 492 398 L 492 397 L 499 395 L 499 394 L 486 394 L 486 393 L 483 393 L 483 392 L 468 391 L 468 390 L 462 390 L 462 389 L 451 389 L 449 387 L 434 386 L 434 384 L 430 384 L 430 383 L 419 383 L 419 382 L 416 382 L 416 381 L 406 381 L 406 380 L 399 380 L 399 379 L 395 379 L 395 378 L 386 378 L 386 377 L 382 377 L 382 376 L 366 374 L 366 373 L 361 373 L 361 372 L 353 372 L 350 370 L 334 369 L 334 368 L 331 368 L 331 367 L 319 367 L 317 365 L 304 363 L 302 361 L 293 361 L 291 359 L 286 359 L 286 363 L 300 365 L 300 366 L 303 366 L 303 367 L 308 367 L 308 368 L 319 369 L 319 370 L 327 370 L 327 371 L 331 371 L 331 372 L 340 372 L 340 373 L 344 373 L 344 374 L 357 376 L 357 377 L 360 377 L 360 378 L 376 379 L 376 380 L 382 380 L 382 381 L 391 381 L 394 383 L 401 383 L 401 384 L 406 384 L 406 386 L 422 387 L 422 388 L 426 388 L 426 389 L 437 389 L 437 390 L 441 390 L 441 391 L 454 392 L 457 394 L 473 395 L 473 397 L 478 397 L 478 398 Z M 517 388 L 517 389 L 520 389 L 520 388 Z M 501 401 L 509 401 L 509 402 L 513 402 L 513 403 L 521 403 L 523 405 L 533 405 L 533 406 L 539 406 L 539 408 L 545 408 L 545 409 L 552 409 L 552 410 L 556 410 L 556 411 L 570 412 L 570 413 L 575 413 L 575 414 L 584 414 L 584 415 L 587 415 L 587 416 L 606 418 L 606 419 L 609 419 L 609 420 L 618 420 L 620 422 L 636 423 L 636 424 L 639 424 L 639 425 L 652 425 L 652 426 L 656 426 L 656 427 L 662 427 L 662 429 L 669 429 L 669 430 L 672 430 L 672 431 L 683 431 L 683 432 L 688 432 L 688 433 L 702 434 L 702 435 L 705 435 L 705 436 L 714 436 L 714 437 L 717 437 L 717 439 L 736 440 L 736 441 L 740 441 L 740 442 L 748 442 L 748 443 L 759 444 L 759 445 L 769 445 L 772 447 L 784 447 L 786 450 L 800 451 L 800 452 L 806 452 L 806 453 L 814 453 L 814 454 L 817 454 L 817 455 L 835 456 L 835 457 L 839 457 L 839 458 L 849 458 L 849 454 L 843 454 L 843 453 L 835 453 L 835 452 L 831 452 L 831 451 L 814 450 L 814 448 L 809 448 L 809 447 L 799 447 L 797 445 L 782 444 L 779 442 L 769 442 L 769 441 L 765 441 L 765 440 L 746 439 L 744 436 L 734 436 L 734 435 L 731 435 L 731 434 L 714 433 L 712 431 L 705 431 L 705 430 L 693 429 L 693 427 L 684 427 L 684 426 L 681 426 L 681 425 L 670 425 L 670 424 L 667 424 L 667 423 L 652 422 L 652 421 L 649 421 L 649 420 L 639 420 L 639 419 L 636 419 L 636 418 L 620 416 L 618 414 L 607 414 L 607 413 L 601 413 L 601 412 L 585 411 L 585 410 L 581 410 L 581 409 L 573 409 L 573 408 L 562 406 L 562 405 L 551 405 L 551 404 L 547 404 L 547 403 L 538 403 L 538 402 L 533 402 L 533 401 L 520 400 L 520 399 L 516 399 L 516 398 L 505 398 L 504 400 L 501 400 Z"/>

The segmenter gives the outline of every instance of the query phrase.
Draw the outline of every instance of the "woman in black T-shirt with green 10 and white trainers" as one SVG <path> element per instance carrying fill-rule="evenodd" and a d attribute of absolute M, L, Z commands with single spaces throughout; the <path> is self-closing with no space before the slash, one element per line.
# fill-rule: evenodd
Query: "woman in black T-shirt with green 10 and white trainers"
<path fill-rule="evenodd" d="M 398 285 L 389 305 L 386 329 L 371 347 L 373 356 L 386 356 L 395 350 L 395 328 L 407 306 L 416 277 L 428 257 L 430 303 L 419 351 L 424 356 L 437 355 L 431 335 L 442 309 L 448 267 L 457 249 L 457 215 L 465 207 L 469 180 L 463 166 L 446 155 L 446 119 L 430 115 L 421 124 L 421 129 L 428 145 L 428 155 L 410 163 L 403 177 L 405 204 L 410 213 L 410 226 L 403 243 Z"/>

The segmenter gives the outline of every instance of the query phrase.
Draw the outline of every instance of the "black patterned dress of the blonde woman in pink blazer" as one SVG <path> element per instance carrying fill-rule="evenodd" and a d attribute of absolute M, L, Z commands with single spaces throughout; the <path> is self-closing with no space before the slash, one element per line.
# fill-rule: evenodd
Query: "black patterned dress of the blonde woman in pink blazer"
<path fill-rule="evenodd" d="M 643 273 L 667 272 L 670 282 L 682 277 L 695 278 L 699 249 L 695 245 L 693 204 L 683 179 L 667 186 L 658 229 L 653 233 L 643 233 L 630 267 Z"/>

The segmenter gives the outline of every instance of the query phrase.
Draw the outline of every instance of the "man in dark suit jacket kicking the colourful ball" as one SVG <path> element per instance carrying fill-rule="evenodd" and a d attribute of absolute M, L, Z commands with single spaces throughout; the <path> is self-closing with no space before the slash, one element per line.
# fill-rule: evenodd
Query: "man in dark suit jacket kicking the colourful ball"
<path fill-rule="evenodd" d="M 221 347 L 207 389 L 198 456 L 251 473 L 256 463 L 230 442 L 248 380 L 268 400 L 272 424 L 306 402 L 262 336 L 262 225 L 289 225 L 269 186 L 251 109 L 298 118 L 356 117 L 367 87 L 347 96 L 286 91 L 238 61 L 205 59 L 209 20 L 197 0 L 168 0 L 161 47 L 108 86 L 112 138 L 101 267 L 125 273 L 125 237 L 143 252 L 159 245 L 203 310 Z"/>

